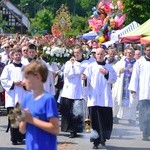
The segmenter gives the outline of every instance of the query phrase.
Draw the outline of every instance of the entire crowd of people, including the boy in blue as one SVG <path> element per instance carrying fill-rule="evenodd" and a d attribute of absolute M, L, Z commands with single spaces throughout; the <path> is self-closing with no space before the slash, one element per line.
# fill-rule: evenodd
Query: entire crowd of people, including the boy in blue
<path fill-rule="evenodd" d="M 95 133 L 90 141 L 93 149 L 98 149 L 110 139 L 113 123 L 126 119 L 130 125 L 136 124 L 137 108 L 143 140 L 150 140 L 150 45 L 145 45 L 144 55 L 132 45 L 120 55 L 115 47 L 105 49 L 94 41 L 74 37 L 65 44 L 52 35 L 0 38 L 1 104 L 8 114 L 18 102 L 24 109 L 18 128 L 13 128 L 8 118 L 6 132 L 10 128 L 12 144 L 26 139 L 28 150 L 43 145 L 55 150 L 58 111 L 61 131 L 70 132 L 69 138 L 84 132 L 87 111 L 91 133 Z M 61 68 L 42 57 L 42 47 L 55 43 L 73 50 Z M 83 50 L 88 53 L 86 59 Z M 61 81 L 56 83 L 60 72 Z"/>

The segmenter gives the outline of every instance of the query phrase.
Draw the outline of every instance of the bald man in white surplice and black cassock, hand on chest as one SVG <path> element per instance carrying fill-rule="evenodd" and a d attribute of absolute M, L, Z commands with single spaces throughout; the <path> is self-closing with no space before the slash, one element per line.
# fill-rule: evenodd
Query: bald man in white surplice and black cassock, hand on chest
<path fill-rule="evenodd" d="M 110 139 L 113 127 L 111 84 L 116 81 L 116 73 L 110 64 L 106 64 L 105 50 L 96 49 L 96 62 L 91 63 L 82 75 L 87 80 L 87 106 L 92 122 L 92 129 L 98 133 L 91 137 L 94 149 L 105 146 Z"/>

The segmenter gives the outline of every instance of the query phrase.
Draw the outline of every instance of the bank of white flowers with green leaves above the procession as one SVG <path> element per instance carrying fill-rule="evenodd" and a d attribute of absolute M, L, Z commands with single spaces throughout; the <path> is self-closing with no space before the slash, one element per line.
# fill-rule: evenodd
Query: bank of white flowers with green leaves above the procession
<path fill-rule="evenodd" d="M 64 64 L 72 57 L 72 52 L 72 49 L 66 47 L 58 47 L 55 45 L 52 47 L 44 46 L 42 57 L 50 64 L 52 62 Z"/>

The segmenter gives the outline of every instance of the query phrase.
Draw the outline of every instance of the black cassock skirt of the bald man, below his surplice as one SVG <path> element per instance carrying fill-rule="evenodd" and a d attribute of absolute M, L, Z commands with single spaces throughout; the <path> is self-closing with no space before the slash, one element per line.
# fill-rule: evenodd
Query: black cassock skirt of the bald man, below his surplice
<path fill-rule="evenodd" d="M 111 107 L 92 106 L 89 107 L 92 129 L 95 130 L 99 137 L 91 138 L 91 142 L 105 142 L 110 139 L 113 128 L 113 114 Z"/>

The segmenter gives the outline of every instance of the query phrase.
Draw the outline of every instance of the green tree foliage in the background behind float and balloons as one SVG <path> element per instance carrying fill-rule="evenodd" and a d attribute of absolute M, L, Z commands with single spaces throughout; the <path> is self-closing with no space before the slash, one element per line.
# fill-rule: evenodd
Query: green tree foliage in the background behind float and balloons
<path fill-rule="evenodd" d="M 124 13 L 126 14 L 125 24 L 137 21 L 142 24 L 149 19 L 150 1 L 149 0 L 122 0 L 124 4 Z M 83 32 L 87 26 L 89 16 L 92 14 L 92 8 L 97 5 L 98 0 L 11 0 L 18 7 L 24 7 L 23 12 L 33 20 L 34 26 L 39 31 L 43 29 L 50 30 L 52 20 L 61 4 L 66 4 L 69 8 L 72 18 L 71 32 Z M 50 14 L 48 15 L 49 12 Z M 50 17 L 50 18 L 48 18 Z M 32 19 L 33 18 L 33 19 Z"/>

